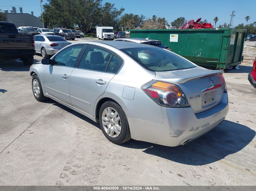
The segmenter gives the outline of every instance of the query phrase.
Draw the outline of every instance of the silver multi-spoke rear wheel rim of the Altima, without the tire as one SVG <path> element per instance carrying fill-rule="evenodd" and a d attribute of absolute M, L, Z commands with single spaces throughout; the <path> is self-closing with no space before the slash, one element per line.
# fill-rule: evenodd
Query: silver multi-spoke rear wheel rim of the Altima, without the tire
<path fill-rule="evenodd" d="M 105 132 L 112 138 L 120 135 L 122 123 L 118 112 L 112 108 L 107 107 L 102 112 L 102 125 Z"/>

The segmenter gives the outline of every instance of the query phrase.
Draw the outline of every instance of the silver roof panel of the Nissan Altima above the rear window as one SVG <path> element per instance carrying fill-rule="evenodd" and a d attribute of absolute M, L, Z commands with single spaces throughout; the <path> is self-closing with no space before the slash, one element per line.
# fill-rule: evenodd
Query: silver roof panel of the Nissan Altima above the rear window
<path fill-rule="evenodd" d="M 109 46 L 113 46 L 117 49 L 125 49 L 125 48 L 139 48 L 139 47 L 152 47 L 148 44 L 141 44 L 141 43 L 133 43 L 133 42 L 124 42 L 124 41 L 94 41 L 97 43 L 106 44 Z"/>

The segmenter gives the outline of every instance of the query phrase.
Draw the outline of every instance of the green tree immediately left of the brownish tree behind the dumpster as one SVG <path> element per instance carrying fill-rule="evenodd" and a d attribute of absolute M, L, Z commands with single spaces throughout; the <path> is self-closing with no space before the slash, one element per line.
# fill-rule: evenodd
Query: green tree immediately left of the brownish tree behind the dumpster
<path fill-rule="evenodd" d="M 119 25 L 121 27 L 127 27 L 128 29 L 135 29 L 137 27 L 141 27 L 144 20 L 145 16 L 143 14 L 141 14 L 141 16 L 132 13 L 124 14 L 121 16 Z"/>

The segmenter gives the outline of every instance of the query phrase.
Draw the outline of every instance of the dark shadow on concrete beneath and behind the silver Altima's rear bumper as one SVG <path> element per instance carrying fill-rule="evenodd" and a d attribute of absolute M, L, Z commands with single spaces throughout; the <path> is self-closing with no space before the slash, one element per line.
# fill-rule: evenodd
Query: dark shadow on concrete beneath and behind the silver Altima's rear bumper
<path fill-rule="evenodd" d="M 188 165 L 205 165 L 219 161 L 248 145 L 255 131 L 247 126 L 224 120 L 205 135 L 184 146 L 167 147 L 153 143 L 131 140 L 122 147 L 144 149 L 142 152 L 170 161 Z"/>

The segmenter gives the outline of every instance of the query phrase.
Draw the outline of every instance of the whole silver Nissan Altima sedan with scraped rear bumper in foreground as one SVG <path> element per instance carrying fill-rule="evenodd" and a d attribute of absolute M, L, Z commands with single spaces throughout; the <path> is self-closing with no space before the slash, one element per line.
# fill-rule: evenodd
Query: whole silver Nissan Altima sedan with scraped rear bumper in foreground
<path fill-rule="evenodd" d="M 223 71 L 147 44 L 76 43 L 29 72 L 36 100 L 49 97 L 99 122 L 115 144 L 184 145 L 228 113 Z"/>

